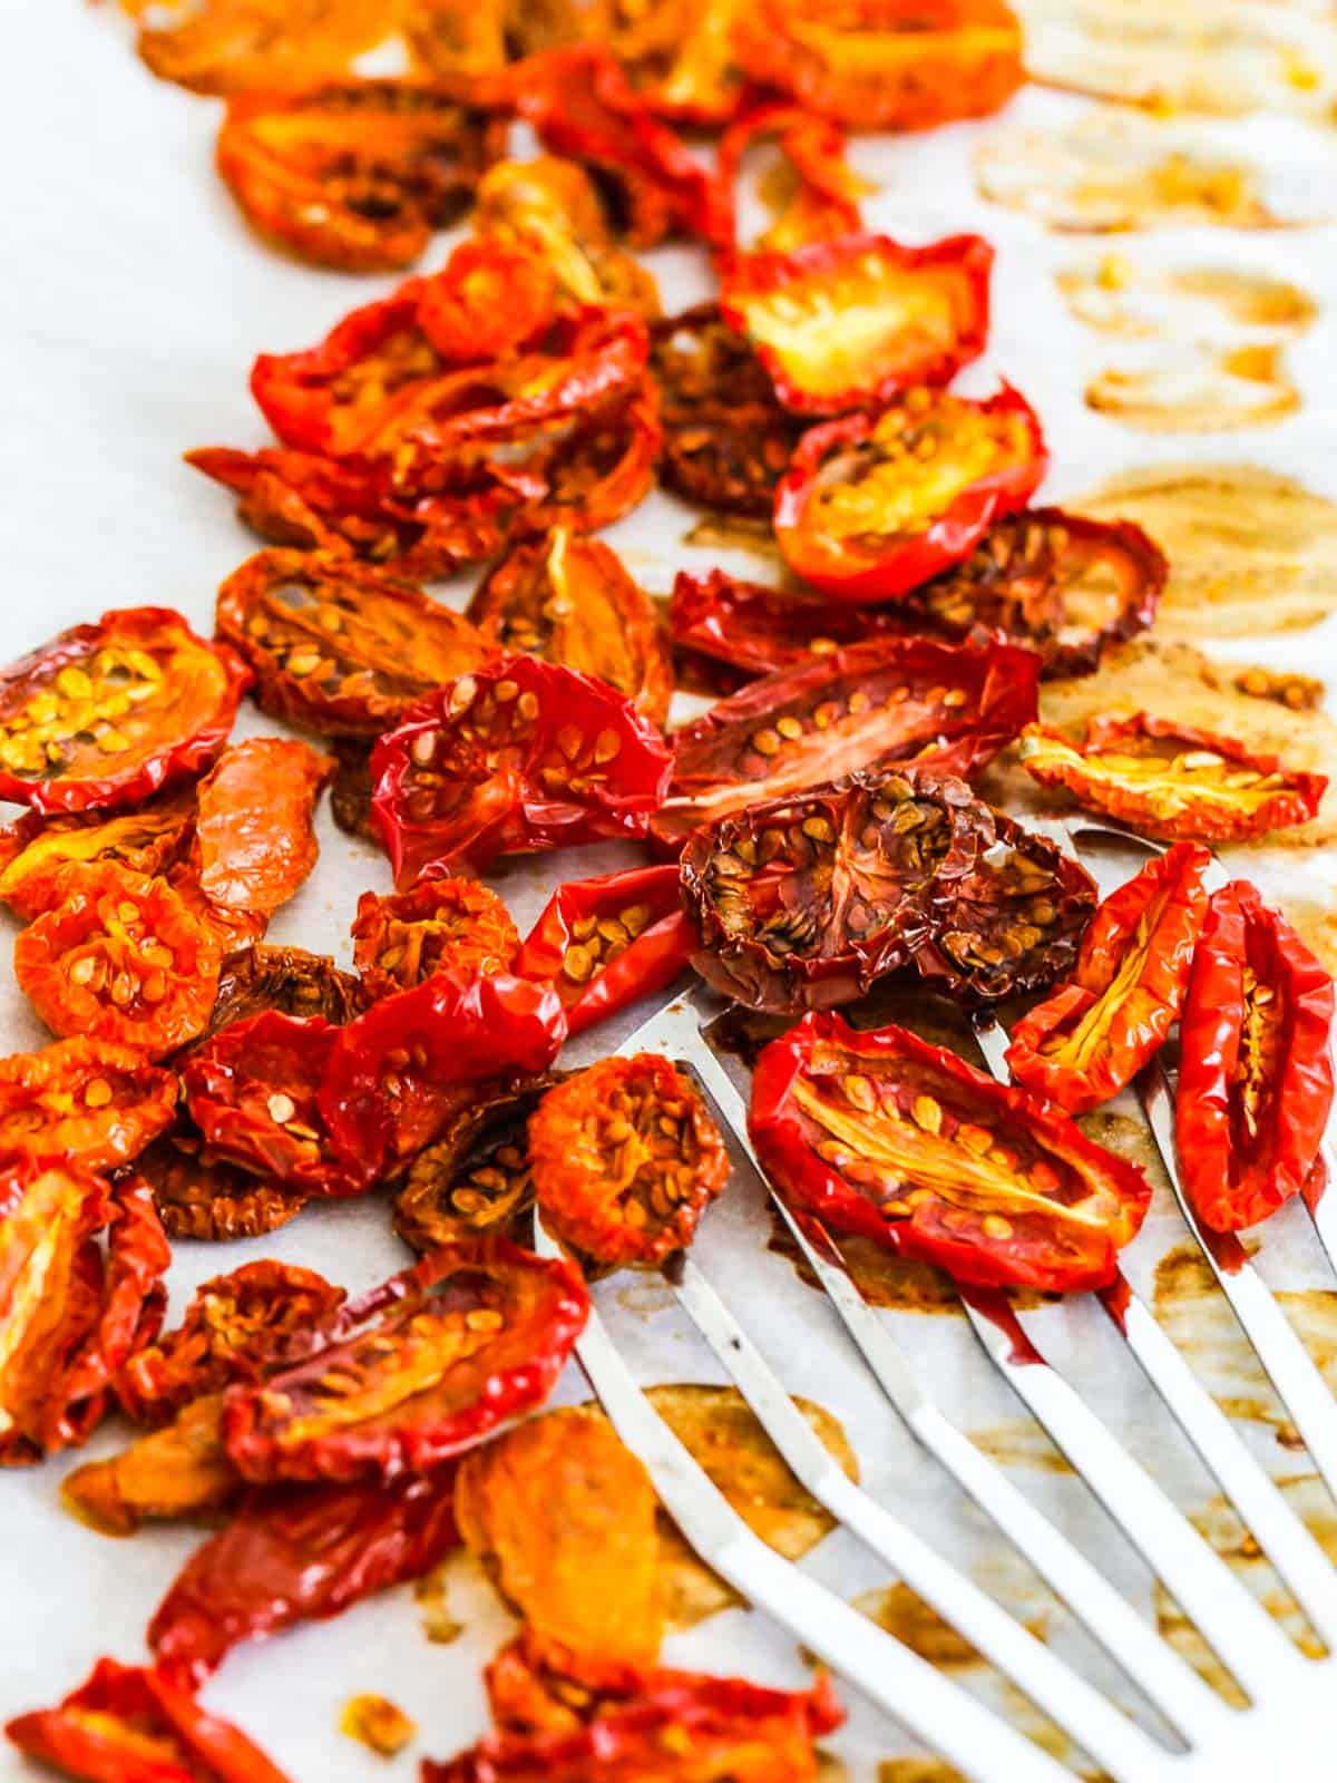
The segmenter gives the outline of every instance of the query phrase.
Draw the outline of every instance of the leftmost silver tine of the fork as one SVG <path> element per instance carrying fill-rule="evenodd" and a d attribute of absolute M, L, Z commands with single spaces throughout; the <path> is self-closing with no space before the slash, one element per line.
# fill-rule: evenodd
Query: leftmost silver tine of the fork
<path fill-rule="evenodd" d="M 535 1248 L 560 1255 L 535 1220 Z M 640 1391 L 597 1312 L 576 1355 L 608 1417 L 701 1558 L 973 1783 L 1071 1783 L 1071 1772 L 843 1598 L 756 1537 Z M 1148 1783 L 1155 1778 L 1146 1769 Z"/>

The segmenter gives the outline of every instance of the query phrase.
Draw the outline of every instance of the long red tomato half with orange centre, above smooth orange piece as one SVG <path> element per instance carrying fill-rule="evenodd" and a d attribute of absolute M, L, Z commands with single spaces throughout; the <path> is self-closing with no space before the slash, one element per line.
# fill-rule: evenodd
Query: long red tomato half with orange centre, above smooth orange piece
<path fill-rule="evenodd" d="M 232 1387 L 248 1480 L 394 1480 L 485 1442 L 547 1398 L 588 1314 L 576 1269 L 506 1239 L 451 1245 L 348 1309 L 264 1387 Z"/>

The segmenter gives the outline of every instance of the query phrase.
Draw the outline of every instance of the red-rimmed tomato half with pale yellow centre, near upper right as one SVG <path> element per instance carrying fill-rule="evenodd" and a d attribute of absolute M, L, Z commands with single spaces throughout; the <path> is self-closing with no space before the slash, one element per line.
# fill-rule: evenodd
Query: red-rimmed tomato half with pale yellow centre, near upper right
<path fill-rule="evenodd" d="M 840 415 L 900 390 L 950 383 L 984 351 L 993 248 L 952 235 L 902 248 L 843 235 L 790 253 L 747 253 L 720 292 L 786 408 Z"/>

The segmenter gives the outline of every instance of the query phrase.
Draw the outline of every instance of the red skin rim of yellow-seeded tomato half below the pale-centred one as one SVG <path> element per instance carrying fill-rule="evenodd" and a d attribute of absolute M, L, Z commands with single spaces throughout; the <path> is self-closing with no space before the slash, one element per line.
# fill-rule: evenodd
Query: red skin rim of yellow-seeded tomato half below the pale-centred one
<path fill-rule="evenodd" d="M 857 455 L 875 439 L 882 417 L 857 414 L 809 428 L 775 489 L 774 506 L 779 547 L 804 581 L 840 601 L 893 601 L 970 556 L 993 521 L 1030 501 L 1048 469 L 1048 453 L 1025 398 L 1004 385 L 982 403 L 947 401 L 986 421 L 1016 421 L 1027 440 L 1023 455 L 977 478 L 918 531 L 874 535 L 856 544 L 820 530 L 816 497 L 834 458 Z"/>

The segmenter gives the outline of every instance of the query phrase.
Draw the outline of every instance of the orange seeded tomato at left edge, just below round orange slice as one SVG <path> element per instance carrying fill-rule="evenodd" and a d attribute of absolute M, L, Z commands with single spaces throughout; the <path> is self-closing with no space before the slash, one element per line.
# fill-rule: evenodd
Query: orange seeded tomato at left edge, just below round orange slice
<path fill-rule="evenodd" d="M 176 1079 L 135 1047 L 57 1039 L 0 1059 L 0 1155 L 128 1164 L 176 1111 Z"/>

